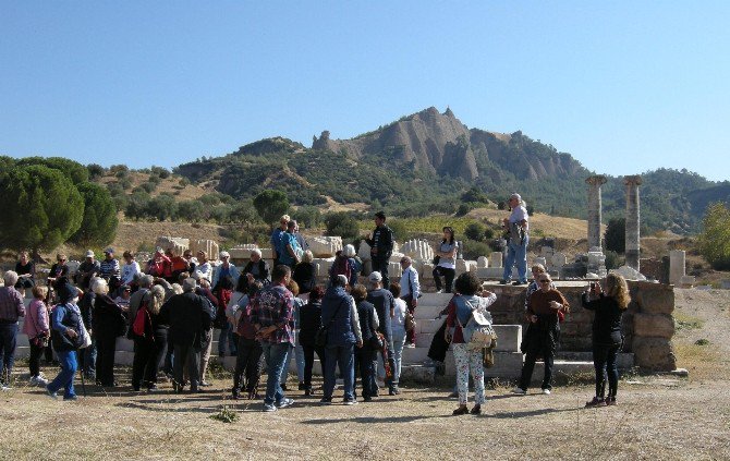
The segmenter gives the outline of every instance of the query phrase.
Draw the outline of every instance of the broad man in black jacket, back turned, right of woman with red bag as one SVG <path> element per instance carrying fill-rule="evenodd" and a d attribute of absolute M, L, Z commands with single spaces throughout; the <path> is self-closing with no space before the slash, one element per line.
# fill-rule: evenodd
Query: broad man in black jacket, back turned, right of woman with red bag
<path fill-rule="evenodd" d="M 210 328 L 212 317 L 208 302 L 195 294 L 195 279 L 183 281 L 183 293 L 170 298 L 160 316 L 170 325 L 169 333 L 174 344 L 173 389 L 182 392 L 183 367 L 187 364 L 191 391 L 199 392 L 202 337 Z"/>

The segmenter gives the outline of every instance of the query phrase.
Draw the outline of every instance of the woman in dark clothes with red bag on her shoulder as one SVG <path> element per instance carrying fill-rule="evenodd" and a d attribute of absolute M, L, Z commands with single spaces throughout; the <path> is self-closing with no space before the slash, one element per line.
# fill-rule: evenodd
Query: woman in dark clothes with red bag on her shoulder
<path fill-rule="evenodd" d="M 165 289 L 159 284 L 145 293 L 142 306 L 132 323 L 134 332 L 134 361 L 132 363 L 132 388 L 138 391 L 145 386 L 157 390 L 157 372 L 168 343 L 167 320 L 160 316 L 165 303 Z"/>

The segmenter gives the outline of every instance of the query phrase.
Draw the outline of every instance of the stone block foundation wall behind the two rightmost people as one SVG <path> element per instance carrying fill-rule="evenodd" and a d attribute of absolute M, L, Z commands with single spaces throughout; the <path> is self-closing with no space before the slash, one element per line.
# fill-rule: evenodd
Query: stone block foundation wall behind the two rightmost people
<path fill-rule="evenodd" d="M 571 305 L 571 313 L 561 324 L 560 350 L 589 352 L 592 349 L 593 313 L 581 306 L 581 293 L 587 282 L 557 282 L 558 290 Z M 497 293 L 491 316 L 498 325 L 523 325 L 525 287 L 489 284 Z M 623 352 L 633 352 L 635 364 L 647 371 L 672 371 L 677 357 L 671 343 L 674 335 L 673 286 L 652 282 L 629 282 L 631 304 L 622 317 Z"/>

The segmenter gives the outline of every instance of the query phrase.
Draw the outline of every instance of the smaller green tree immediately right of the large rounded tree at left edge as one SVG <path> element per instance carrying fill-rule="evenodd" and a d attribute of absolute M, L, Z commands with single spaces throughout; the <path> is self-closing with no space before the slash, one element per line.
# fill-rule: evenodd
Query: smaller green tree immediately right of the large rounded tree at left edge
<path fill-rule="evenodd" d="M 104 246 L 117 235 L 117 205 L 109 191 L 98 184 L 84 182 L 76 186 L 84 198 L 84 218 L 71 236 L 82 246 Z"/>

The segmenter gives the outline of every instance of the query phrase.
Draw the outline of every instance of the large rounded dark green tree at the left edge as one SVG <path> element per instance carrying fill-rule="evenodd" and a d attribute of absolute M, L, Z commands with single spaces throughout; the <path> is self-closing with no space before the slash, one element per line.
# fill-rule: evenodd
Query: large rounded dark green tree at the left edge
<path fill-rule="evenodd" d="M 31 163 L 0 171 L 0 247 L 52 250 L 78 230 L 84 201 L 64 173 Z"/>

